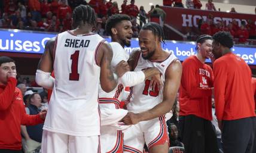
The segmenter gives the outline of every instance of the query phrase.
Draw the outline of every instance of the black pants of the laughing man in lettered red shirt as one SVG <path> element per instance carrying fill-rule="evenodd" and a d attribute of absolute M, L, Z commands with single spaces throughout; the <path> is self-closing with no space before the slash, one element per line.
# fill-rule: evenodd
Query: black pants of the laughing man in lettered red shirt
<path fill-rule="evenodd" d="M 211 121 L 186 115 L 179 117 L 179 127 L 186 153 L 218 153 L 217 136 Z"/>

